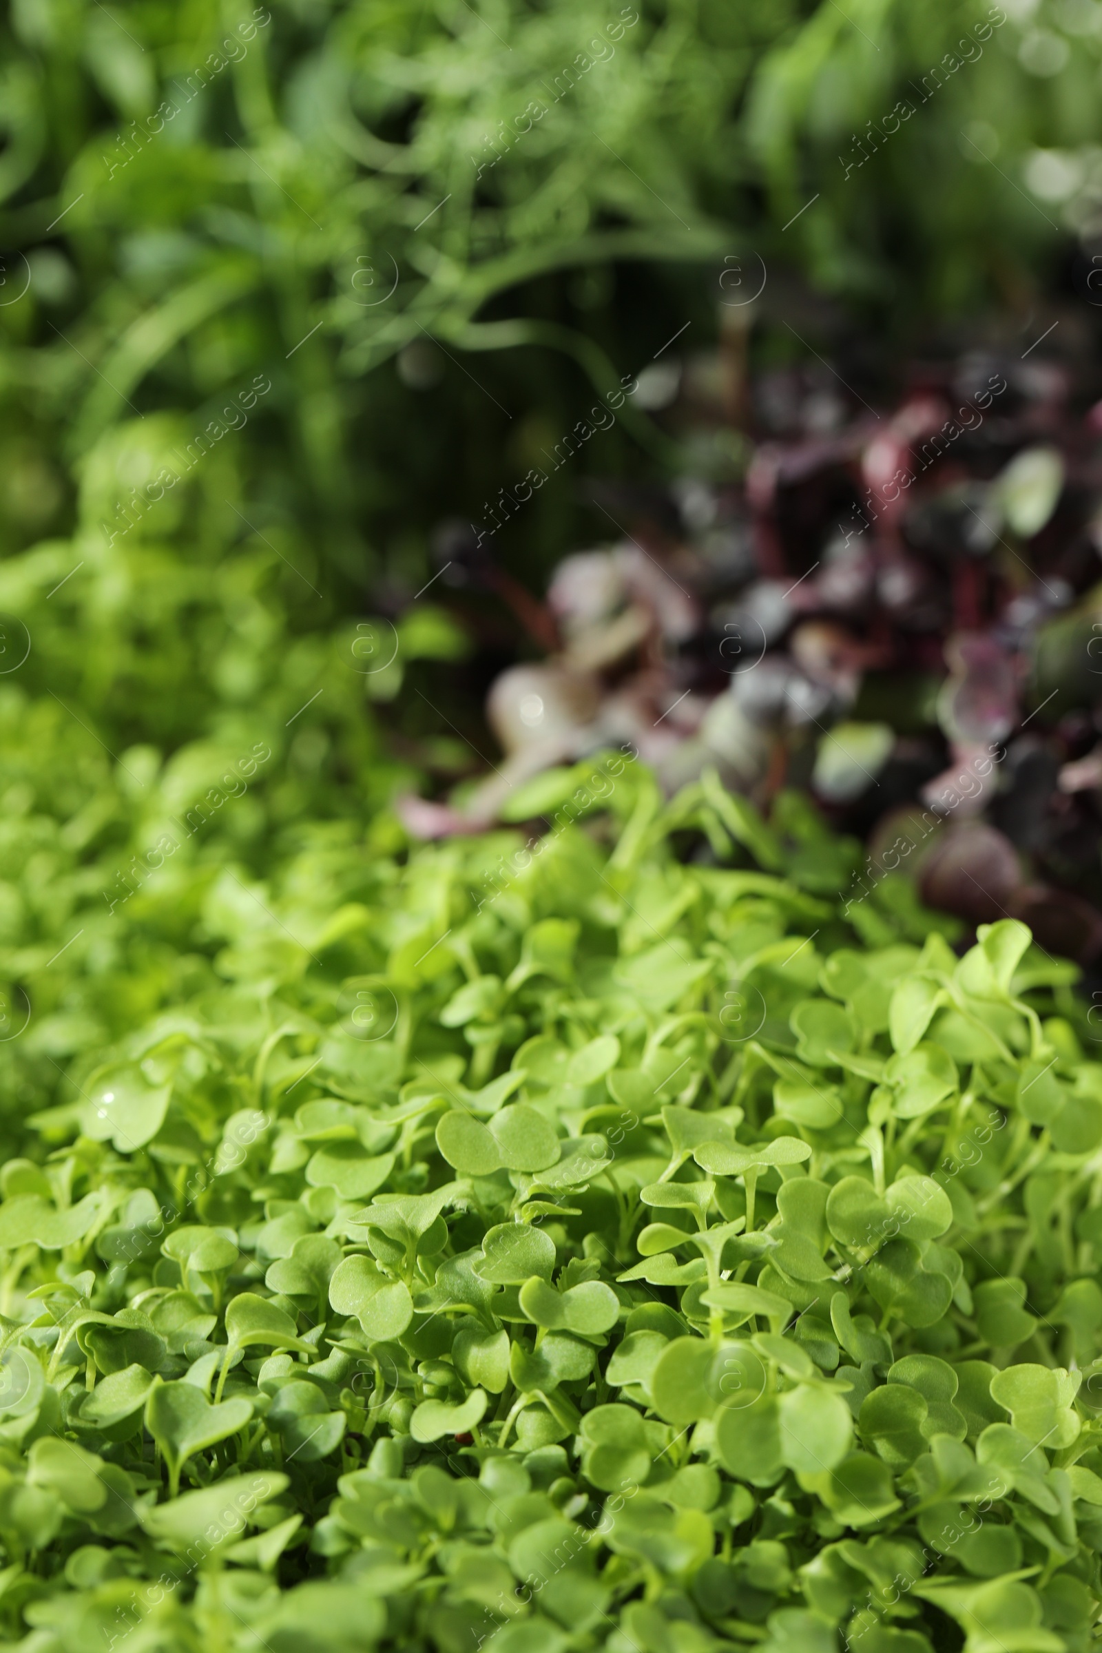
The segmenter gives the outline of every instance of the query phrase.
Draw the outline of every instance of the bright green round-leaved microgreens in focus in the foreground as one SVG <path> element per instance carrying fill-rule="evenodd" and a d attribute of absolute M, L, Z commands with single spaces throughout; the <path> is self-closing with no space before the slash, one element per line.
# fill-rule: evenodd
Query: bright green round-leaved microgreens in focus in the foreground
<path fill-rule="evenodd" d="M 843 916 L 793 797 L 577 798 L 225 868 L 195 997 L 8 1122 L 10 1640 L 1089 1645 L 1076 970 L 902 881 Z"/>

